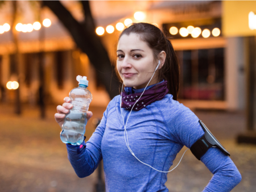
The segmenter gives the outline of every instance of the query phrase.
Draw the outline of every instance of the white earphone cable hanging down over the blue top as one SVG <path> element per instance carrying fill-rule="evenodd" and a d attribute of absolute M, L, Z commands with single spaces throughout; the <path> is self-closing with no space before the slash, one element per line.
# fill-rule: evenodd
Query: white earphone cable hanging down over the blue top
<path fill-rule="evenodd" d="M 158 66 L 159 66 L 159 65 L 160 65 L 160 61 L 158 61 Z M 156 66 L 156 69 L 158 69 L 158 66 Z M 156 69 L 155 69 L 155 72 L 156 72 Z M 155 74 L 155 72 L 154 72 L 154 74 Z M 152 80 L 154 74 L 153 74 L 152 77 L 150 78 L 150 81 Z M 150 83 L 150 81 L 148 81 L 148 84 Z M 148 86 L 148 84 L 147 84 L 147 86 Z M 146 90 L 147 86 L 145 87 L 144 91 Z M 123 118 L 122 107 L 121 107 L 121 106 L 122 106 L 122 91 L 123 91 L 123 85 L 122 85 L 121 98 L 120 98 L 120 111 L 121 111 L 121 115 L 122 115 L 122 118 Z M 144 91 L 142 92 L 141 97 L 142 97 Z M 134 107 L 135 104 L 139 101 L 139 99 L 140 99 L 141 97 L 138 98 L 138 100 L 134 103 L 133 107 Z M 131 108 L 131 111 L 133 111 L 133 107 Z M 127 124 L 128 119 L 129 119 L 129 117 L 130 117 L 131 111 L 130 111 L 130 113 L 129 113 L 129 116 L 127 117 L 126 123 L 125 123 L 125 119 L 123 118 L 123 126 L 124 126 L 124 128 L 125 128 L 125 131 L 123 132 L 123 136 L 125 137 L 125 143 L 126 143 L 127 148 L 129 149 L 131 155 L 133 155 L 135 158 L 137 158 L 137 157 L 135 156 L 134 152 L 131 150 L 131 148 L 130 148 L 130 146 L 129 146 L 128 134 L 127 134 L 127 130 L 126 130 L 126 124 Z M 126 134 L 126 136 L 125 136 L 125 134 Z M 126 141 L 126 139 L 127 139 L 127 141 Z M 187 151 L 188 151 L 188 149 L 186 149 L 185 152 L 187 152 Z M 181 161 L 181 159 L 183 158 L 185 152 L 183 153 L 182 157 L 180 158 L 180 161 Z M 148 164 L 142 162 L 142 161 L 139 160 L 138 158 L 137 158 L 137 160 L 138 160 L 139 162 L 141 162 L 142 164 L 147 165 L 147 166 L 149 166 L 150 168 L 152 168 L 152 169 L 154 169 L 154 170 L 156 170 L 156 171 L 158 171 L 158 172 L 162 172 L 162 173 L 171 172 L 172 170 L 174 170 L 174 169 L 180 164 L 180 161 L 179 161 L 179 163 L 175 166 L 174 169 L 169 170 L 168 172 L 163 172 L 163 171 L 161 171 L 161 170 L 155 169 L 155 168 L 153 168 L 152 166 L 150 166 L 150 165 L 148 165 Z"/>

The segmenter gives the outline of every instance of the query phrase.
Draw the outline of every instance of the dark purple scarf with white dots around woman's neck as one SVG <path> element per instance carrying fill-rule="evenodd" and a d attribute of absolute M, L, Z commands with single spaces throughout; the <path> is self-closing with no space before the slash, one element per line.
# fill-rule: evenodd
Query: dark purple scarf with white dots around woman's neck
<path fill-rule="evenodd" d="M 158 86 L 155 90 L 155 86 Z M 127 110 L 131 110 L 134 103 L 138 100 L 139 97 L 141 97 L 141 94 L 143 93 L 142 97 L 139 99 L 139 101 L 135 104 L 133 107 L 134 111 L 139 111 L 142 108 L 146 107 L 147 105 L 150 105 L 152 102 L 161 100 L 164 98 L 164 96 L 168 93 L 167 88 L 167 81 L 162 82 L 161 84 L 155 85 L 151 87 L 150 89 L 147 89 L 141 92 L 141 93 L 132 93 L 128 94 L 125 91 L 122 92 L 122 108 L 126 108 Z M 121 94 L 120 94 L 121 95 Z"/>

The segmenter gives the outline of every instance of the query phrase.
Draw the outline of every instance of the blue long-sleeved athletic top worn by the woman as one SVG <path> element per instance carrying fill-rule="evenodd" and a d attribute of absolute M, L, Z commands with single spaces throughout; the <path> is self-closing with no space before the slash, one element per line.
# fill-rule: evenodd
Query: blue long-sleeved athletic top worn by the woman
<path fill-rule="evenodd" d="M 152 86 L 154 85 L 147 89 Z M 143 90 L 144 88 L 135 91 L 139 93 L 138 91 Z M 101 123 L 86 146 L 81 148 L 81 152 L 77 151 L 76 146 L 67 144 L 68 160 L 77 176 L 82 178 L 92 174 L 103 158 L 107 192 L 168 191 L 164 185 L 167 173 L 160 173 L 143 165 L 127 148 L 120 97 L 117 95 L 109 102 Z M 130 110 L 121 110 L 126 122 Z M 172 99 L 171 94 L 139 111 L 132 111 L 126 130 L 135 156 L 162 171 L 170 169 L 184 145 L 190 148 L 204 135 L 197 116 Z M 241 181 L 236 165 L 220 149 L 210 148 L 201 157 L 201 161 L 214 174 L 203 191 L 230 191 Z"/>

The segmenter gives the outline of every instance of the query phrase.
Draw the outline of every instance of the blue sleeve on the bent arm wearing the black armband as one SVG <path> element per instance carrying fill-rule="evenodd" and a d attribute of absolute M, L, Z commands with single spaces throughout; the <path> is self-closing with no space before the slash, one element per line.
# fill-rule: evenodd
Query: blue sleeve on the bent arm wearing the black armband
<path fill-rule="evenodd" d="M 199 124 L 199 119 L 187 107 L 181 110 L 175 122 L 175 136 L 177 141 L 188 148 L 191 148 L 193 143 L 204 135 L 203 128 Z M 201 157 L 201 161 L 213 174 L 212 179 L 204 188 L 204 192 L 231 191 L 241 181 L 241 174 L 236 165 L 220 149 L 210 148 Z"/>

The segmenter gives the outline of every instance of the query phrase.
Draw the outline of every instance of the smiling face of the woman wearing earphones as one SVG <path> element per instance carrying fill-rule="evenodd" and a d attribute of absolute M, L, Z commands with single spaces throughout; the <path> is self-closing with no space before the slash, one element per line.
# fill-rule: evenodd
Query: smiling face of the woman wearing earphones
<path fill-rule="evenodd" d="M 146 87 L 158 61 L 153 51 L 138 34 L 122 35 L 117 45 L 117 69 L 125 86 L 141 89 Z M 158 83 L 157 70 L 149 85 Z"/>

